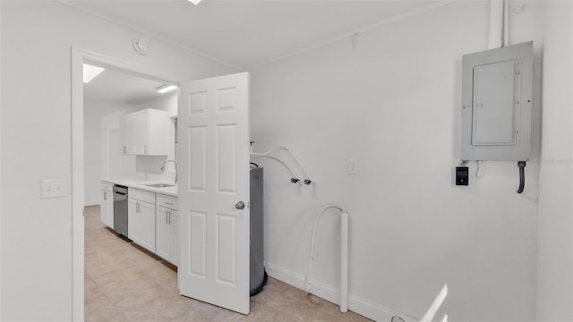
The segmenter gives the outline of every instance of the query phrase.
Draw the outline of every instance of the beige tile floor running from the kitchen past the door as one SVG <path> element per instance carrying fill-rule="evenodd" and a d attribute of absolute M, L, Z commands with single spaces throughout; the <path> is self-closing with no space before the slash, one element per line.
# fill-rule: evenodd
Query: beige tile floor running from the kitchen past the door
<path fill-rule="evenodd" d="M 176 268 L 85 212 L 86 321 L 369 321 L 269 277 L 247 316 L 179 295 Z"/>

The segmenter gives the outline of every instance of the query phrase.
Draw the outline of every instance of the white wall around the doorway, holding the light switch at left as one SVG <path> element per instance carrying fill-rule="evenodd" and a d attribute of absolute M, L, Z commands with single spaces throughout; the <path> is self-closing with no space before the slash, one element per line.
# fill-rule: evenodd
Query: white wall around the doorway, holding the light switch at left
<path fill-rule="evenodd" d="M 235 72 L 56 2 L 0 2 L 2 320 L 72 318 L 72 200 L 40 199 L 42 179 L 71 182 L 71 47 L 141 64 L 173 80 Z M 74 220 L 81 220 L 74 214 Z"/>

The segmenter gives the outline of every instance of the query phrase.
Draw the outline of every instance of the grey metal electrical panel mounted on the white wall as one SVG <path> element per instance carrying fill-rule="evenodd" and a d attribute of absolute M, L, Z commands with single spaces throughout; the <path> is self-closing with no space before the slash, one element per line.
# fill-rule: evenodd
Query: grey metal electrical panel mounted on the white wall
<path fill-rule="evenodd" d="M 526 161 L 531 150 L 533 42 L 464 55 L 465 161 Z"/>

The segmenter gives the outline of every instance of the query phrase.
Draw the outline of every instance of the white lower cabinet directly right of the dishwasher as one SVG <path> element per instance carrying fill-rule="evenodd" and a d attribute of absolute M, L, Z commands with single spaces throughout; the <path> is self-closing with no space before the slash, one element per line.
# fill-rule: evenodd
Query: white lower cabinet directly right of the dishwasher
<path fill-rule="evenodd" d="M 127 202 L 128 238 L 155 252 L 155 193 L 130 189 Z"/>

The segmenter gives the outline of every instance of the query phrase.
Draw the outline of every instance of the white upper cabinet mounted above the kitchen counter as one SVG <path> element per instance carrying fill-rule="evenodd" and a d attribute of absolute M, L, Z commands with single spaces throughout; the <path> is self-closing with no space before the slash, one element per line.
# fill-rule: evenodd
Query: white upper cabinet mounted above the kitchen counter
<path fill-rule="evenodd" d="M 173 146 L 174 124 L 166 111 L 147 108 L 126 114 L 121 120 L 125 155 L 167 156 Z"/>

